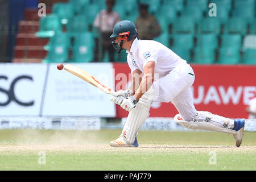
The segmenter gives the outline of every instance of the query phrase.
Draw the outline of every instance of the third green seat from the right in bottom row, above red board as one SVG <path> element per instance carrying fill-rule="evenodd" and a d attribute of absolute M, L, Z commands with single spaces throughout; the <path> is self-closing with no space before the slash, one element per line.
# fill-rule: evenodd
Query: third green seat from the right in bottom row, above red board
<path fill-rule="evenodd" d="M 197 47 L 193 49 L 193 63 L 213 64 L 215 61 L 215 52 L 213 48 Z"/>

